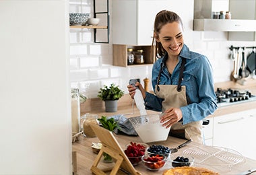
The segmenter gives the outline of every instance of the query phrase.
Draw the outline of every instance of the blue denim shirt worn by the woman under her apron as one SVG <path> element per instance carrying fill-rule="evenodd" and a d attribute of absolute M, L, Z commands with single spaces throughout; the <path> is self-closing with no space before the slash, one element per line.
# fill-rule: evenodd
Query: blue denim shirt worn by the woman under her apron
<path fill-rule="evenodd" d="M 166 54 L 164 57 L 168 57 Z M 152 67 L 152 86 L 155 86 L 158 79 L 158 73 L 163 64 L 163 58 L 160 58 Z M 183 81 L 181 85 L 186 86 L 187 106 L 181 107 L 183 114 L 183 125 L 199 121 L 206 116 L 213 114 L 217 109 L 216 94 L 214 92 L 214 79 L 212 75 L 212 65 L 207 57 L 196 52 L 191 52 L 184 44 L 179 55 L 179 63 L 174 68 L 172 75 L 168 72 L 166 66 L 162 70 L 160 83 L 162 85 L 177 85 L 179 80 L 179 70 L 181 68 L 182 58 L 186 59 L 185 71 L 183 72 Z M 155 94 L 146 92 L 144 99 L 147 110 L 162 111 L 162 98 Z"/>

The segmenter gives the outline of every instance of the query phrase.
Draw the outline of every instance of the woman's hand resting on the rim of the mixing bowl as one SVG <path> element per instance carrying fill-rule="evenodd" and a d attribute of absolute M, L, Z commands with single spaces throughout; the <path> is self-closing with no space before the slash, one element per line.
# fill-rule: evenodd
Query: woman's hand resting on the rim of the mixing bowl
<path fill-rule="evenodd" d="M 162 116 L 160 122 L 164 122 L 163 127 L 169 128 L 174 123 L 179 122 L 182 118 L 182 112 L 180 108 L 169 108 L 164 111 L 164 115 Z"/>

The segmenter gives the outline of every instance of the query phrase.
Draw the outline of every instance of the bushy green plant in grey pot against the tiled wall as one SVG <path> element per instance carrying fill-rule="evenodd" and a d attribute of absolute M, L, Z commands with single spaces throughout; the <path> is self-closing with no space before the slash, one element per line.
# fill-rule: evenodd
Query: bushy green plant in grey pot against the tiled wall
<path fill-rule="evenodd" d="M 106 112 L 117 112 L 117 101 L 121 98 L 123 92 L 118 85 L 111 83 L 110 86 L 104 85 L 98 92 L 98 97 L 105 102 Z"/>

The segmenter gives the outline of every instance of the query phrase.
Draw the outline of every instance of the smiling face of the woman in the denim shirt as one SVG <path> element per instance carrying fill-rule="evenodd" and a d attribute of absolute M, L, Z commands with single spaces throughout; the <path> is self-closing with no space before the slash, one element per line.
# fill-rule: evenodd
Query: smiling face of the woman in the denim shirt
<path fill-rule="evenodd" d="M 183 48 L 183 27 L 179 22 L 172 22 L 162 26 L 157 42 L 161 42 L 169 57 L 176 57 Z"/>

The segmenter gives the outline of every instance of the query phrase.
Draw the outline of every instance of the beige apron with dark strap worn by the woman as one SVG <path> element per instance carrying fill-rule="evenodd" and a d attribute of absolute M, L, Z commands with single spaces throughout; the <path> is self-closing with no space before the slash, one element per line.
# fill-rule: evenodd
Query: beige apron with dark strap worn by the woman
<path fill-rule="evenodd" d="M 185 63 L 181 66 L 184 66 Z M 183 67 L 184 69 L 184 67 Z M 180 77 L 183 77 L 180 72 Z M 181 80 L 179 81 L 179 84 Z M 162 102 L 162 111 L 167 110 L 168 108 L 180 108 L 182 106 L 187 106 L 186 98 L 186 87 L 185 85 L 180 85 L 180 92 L 178 91 L 178 85 L 156 85 L 155 92 L 158 98 L 163 98 Z M 175 130 L 185 130 L 185 138 L 191 139 L 197 143 L 204 143 L 203 141 L 203 132 L 202 132 L 202 121 L 190 122 L 186 125 L 182 125 L 182 122 L 177 122 L 171 126 L 170 132 Z"/>

